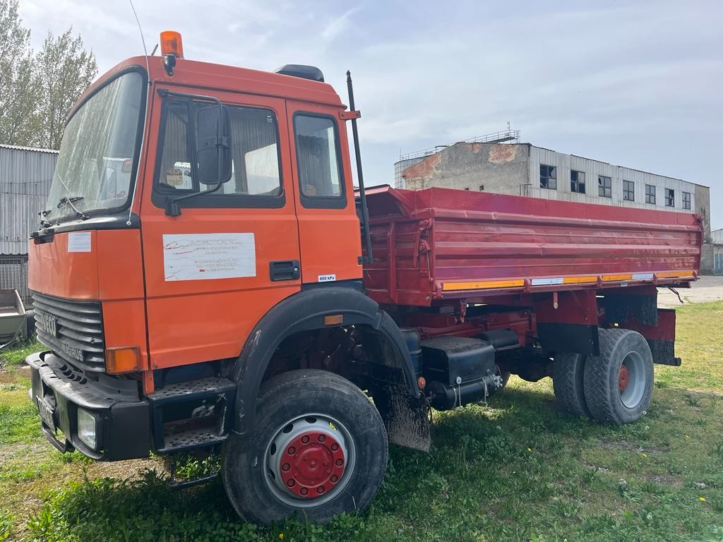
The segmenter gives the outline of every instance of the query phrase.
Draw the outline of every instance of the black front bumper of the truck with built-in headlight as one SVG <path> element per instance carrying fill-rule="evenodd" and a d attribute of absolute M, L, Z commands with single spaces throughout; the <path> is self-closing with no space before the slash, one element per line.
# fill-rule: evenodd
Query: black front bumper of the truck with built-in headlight
<path fill-rule="evenodd" d="M 139 397 L 136 382 L 106 374 L 98 375 L 97 381 L 88 379 L 51 352 L 30 354 L 25 363 L 32 374 L 33 403 L 37 407 L 38 398 L 42 400 L 46 418 L 50 416 L 55 426 L 51 427 L 41 416 L 43 434 L 54 447 L 61 452 L 77 449 L 101 461 L 147 457 L 150 405 Z M 95 416 L 96 449 L 78 437 L 79 407 Z"/>

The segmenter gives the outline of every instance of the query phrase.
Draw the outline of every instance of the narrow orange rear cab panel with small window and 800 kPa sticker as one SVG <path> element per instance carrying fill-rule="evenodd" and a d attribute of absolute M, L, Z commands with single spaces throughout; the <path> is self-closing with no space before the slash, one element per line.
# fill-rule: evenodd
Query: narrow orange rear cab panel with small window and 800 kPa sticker
<path fill-rule="evenodd" d="M 359 280 L 361 237 L 339 107 L 287 100 L 301 280 Z M 342 145 L 343 142 L 343 145 Z"/>

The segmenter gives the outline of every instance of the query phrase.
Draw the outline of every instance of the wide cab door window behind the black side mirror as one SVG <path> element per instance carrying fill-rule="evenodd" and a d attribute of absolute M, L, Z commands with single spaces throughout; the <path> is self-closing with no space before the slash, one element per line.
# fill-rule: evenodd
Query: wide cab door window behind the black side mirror
<path fill-rule="evenodd" d="M 208 104 L 174 100 L 164 105 L 158 192 L 173 194 L 212 189 L 213 184 L 198 182 L 192 148 L 197 109 Z M 228 106 L 228 113 L 231 178 L 218 191 L 205 197 L 189 199 L 186 205 L 282 207 L 281 155 L 275 113 L 265 108 L 239 106 Z"/>

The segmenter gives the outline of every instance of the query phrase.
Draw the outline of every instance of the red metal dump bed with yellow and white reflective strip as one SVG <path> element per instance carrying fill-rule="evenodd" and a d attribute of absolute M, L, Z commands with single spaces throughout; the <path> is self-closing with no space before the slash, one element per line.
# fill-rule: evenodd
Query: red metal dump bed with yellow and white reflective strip
<path fill-rule="evenodd" d="M 429 188 L 369 189 L 379 303 L 426 306 L 514 292 L 688 283 L 698 215 Z"/>

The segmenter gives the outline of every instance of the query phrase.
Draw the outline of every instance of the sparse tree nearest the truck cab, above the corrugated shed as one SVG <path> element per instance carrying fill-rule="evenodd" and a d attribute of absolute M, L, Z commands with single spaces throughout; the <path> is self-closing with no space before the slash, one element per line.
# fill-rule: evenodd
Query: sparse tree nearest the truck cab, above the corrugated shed
<path fill-rule="evenodd" d="M 54 38 L 51 32 L 35 56 L 35 145 L 57 149 L 65 119 L 77 98 L 98 74 L 93 51 L 85 51 L 83 40 L 72 37 L 72 27 Z"/>

